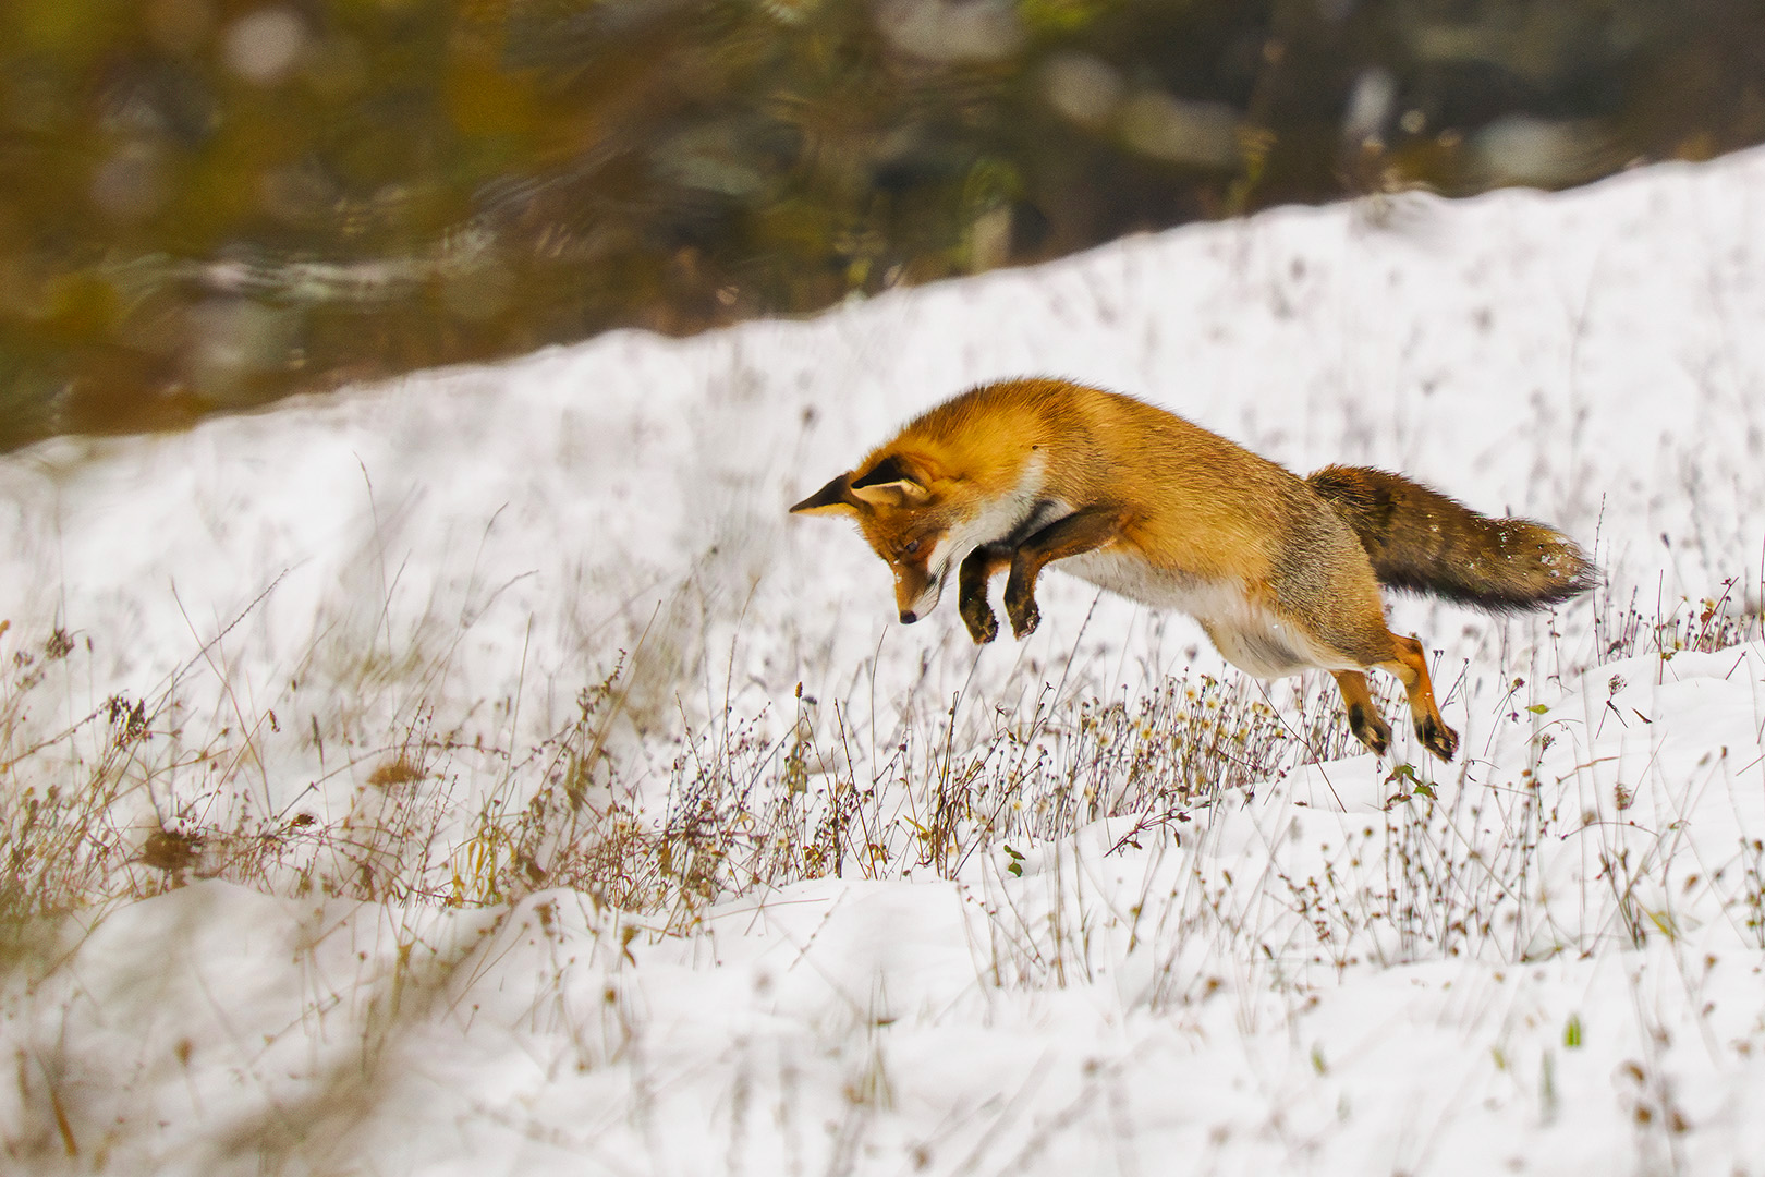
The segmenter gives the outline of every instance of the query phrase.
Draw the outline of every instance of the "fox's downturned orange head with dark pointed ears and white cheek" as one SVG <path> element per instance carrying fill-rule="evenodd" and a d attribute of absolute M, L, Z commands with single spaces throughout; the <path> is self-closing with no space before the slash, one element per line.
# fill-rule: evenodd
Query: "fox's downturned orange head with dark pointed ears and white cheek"
<path fill-rule="evenodd" d="M 792 515 L 849 515 L 895 574 L 902 625 L 937 607 L 944 581 L 967 556 L 948 540 L 958 522 L 948 478 L 927 459 L 888 454 L 833 478 L 791 508 Z"/>

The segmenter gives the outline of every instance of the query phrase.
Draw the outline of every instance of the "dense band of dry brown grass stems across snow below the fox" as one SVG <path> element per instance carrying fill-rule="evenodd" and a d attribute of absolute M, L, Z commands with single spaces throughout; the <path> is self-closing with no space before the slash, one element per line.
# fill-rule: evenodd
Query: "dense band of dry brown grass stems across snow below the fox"
<path fill-rule="evenodd" d="M 1671 658 L 1756 637 L 1761 618 L 1735 581 L 1716 600 L 1647 614 L 1640 591 L 1620 603 L 1606 589 L 1592 632 L 1596 662 Z M 907 697 L 881 746 L 854 731 L 854 701 L 800 686 L 780 736 L 762 734 L 766 716 L 683 718 L 664 803 L 646 808 L 609 752 L 630 678 L 621 656 L 579 692 L 567 725 L 519 752 L 468 743 L 429 708 L 367 746 L 334 736 L 357 745 L 346 768 L 360 783 L 323 819 L 305 805 L 263 812 L 263 745 L 288 738 L 274 711 L 189 731 L 199 658 L 154 695 L 116 695 L 32 736 L 25 716 L 58 688 L 58 671 L 62 690 L 78 678 L 69 663 L 83 648 L 62 630 L 26 637 L 4 623 L 0 639 L 0 919 L 14 926 L 215 877 L 272 895 L 438 905 L 561 886 L 683 930 L 704 905 L 754 888 L 955 877 L 1001 843 L 1054 842 L 1105 817 L 1184 821 L 1227 791 L 1359 752 L 1324 676 L 1269 693 L 1243 676 L 1184 674 L 1131 701 L 1045 685 L 965 736 L 974 716 L 958 723 L 958 713 L 981 701 L 934 709 Z M 318 731 L 311 739 L 325 743 Z M 1405 766 L 1393 780 L 1419 782 Z"/>

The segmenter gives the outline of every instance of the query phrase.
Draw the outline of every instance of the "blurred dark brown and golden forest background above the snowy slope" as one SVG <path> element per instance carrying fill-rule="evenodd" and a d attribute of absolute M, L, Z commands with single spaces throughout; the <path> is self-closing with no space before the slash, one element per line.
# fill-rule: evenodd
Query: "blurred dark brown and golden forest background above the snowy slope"
<path fill-rule="evenodd" d="M 1760 0 L 4 0 L 0 448 L 1761 139 Z"/>

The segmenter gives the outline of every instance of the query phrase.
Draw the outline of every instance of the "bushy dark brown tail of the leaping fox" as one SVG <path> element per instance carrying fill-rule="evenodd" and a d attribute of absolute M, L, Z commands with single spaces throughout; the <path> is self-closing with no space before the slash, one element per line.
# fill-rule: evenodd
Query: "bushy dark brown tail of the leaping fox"
<path fill-rule="evenodd" d="M 1574 540 L 1541 522 L 1490 519 L 1364 466 L 1326 466 L 1306 484 L 1359 536 L 1380 584 L 1490 612 L 1555 605 L 1594 588 L 1594 565 Z"/>

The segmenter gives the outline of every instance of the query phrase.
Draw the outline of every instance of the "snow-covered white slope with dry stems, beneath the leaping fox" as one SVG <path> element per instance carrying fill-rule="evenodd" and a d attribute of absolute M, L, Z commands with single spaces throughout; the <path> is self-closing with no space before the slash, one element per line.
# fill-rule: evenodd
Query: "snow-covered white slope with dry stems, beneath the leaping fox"
<path fill-rule="evenodd" d="M 5 849 L 48 852 L 32 801 L 115 796 L 55 852 L 122 898 L 5 946 L 0 1156 L 1765 1173 L 1761 326 L 1751 154 L 11 455 Z M 1027 372 L 1546 519 L 1608 589 L 1511 621 L 1394 602 L 1451 768 L 1394 723 L 1387 762 L 1338 739 L 1177 789 L 1179 729 L 1135 716 L 1223 697 L 1188 621 L 1048 577 L 1038 633 L 976 653 L 951 602 L 893 625 L 851 529 L 784 514 Z M 1742 641 L 1659 653 L 1714 632 Z M 1103 731 L 1165 750 L 1087 775 Z M 812 833 L 844 787 L 865 829 L 778 886 L 713 865 L 699 903 L 678 863 L 648 905 L 551 886 L 556 840 L 531 886 L 484 882 L 515 852 L 494 815 L 549 782 L 635 838 L 706 764 Z M 999 808 L 939 824 L 962 789 Z"/>

